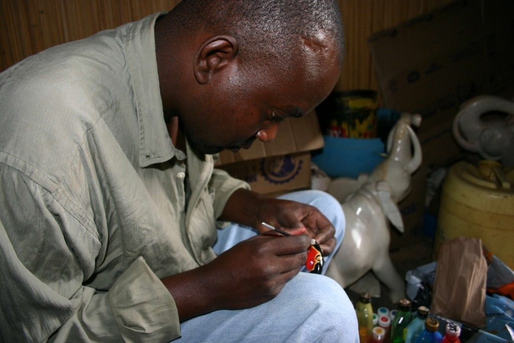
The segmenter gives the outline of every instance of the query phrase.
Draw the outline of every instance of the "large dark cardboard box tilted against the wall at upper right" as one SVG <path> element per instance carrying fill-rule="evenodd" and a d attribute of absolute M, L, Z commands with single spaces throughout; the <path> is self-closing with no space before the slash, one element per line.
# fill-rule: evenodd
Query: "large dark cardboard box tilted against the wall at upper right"
<path fill-rule="evenodd" d="M 461 157 L 451 135 L 460 105 L 514 88 L 514 2 L 457 0 L 368 39 L 384 106 L 420 113 L 424 164 Z"/>

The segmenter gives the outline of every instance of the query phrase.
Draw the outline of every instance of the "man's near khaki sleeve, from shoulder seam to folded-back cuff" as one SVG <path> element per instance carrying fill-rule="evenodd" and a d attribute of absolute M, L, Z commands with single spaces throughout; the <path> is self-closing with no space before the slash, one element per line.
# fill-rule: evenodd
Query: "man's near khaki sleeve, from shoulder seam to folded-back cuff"
<path fill-rule="evenodd" d="M 180 336 L 175 301 L 142 257 L 108 290 L 88 286 L 101 234 L 9 167 L 0 192 L 0 332 L 7 341 L 162 342 Z"/>

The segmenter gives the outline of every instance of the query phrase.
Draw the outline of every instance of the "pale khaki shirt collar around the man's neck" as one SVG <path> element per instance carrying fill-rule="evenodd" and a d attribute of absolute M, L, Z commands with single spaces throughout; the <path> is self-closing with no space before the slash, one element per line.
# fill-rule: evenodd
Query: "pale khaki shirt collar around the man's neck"
<path fill-rule="evenodd" d="M 186 158 L 173 146 L 162 111 L 154 36 L 155 21 L 162 14 L 165 12 L 133 23 L 126 44 L 139 121 L 139 167 L 142 168 L 173 157 Z"/>

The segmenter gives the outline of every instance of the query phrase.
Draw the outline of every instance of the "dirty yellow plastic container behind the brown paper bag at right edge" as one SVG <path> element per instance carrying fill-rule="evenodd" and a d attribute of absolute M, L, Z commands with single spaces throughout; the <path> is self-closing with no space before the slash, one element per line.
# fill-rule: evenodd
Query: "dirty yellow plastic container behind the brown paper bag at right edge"
<path fill-rule="evenodd" d="M 482 239 L 514 269 L 514 169 L 502 170 L 491 160 L 450 168 L 441 192 L 433 259 L 445 240 L 459 236 Z"/>

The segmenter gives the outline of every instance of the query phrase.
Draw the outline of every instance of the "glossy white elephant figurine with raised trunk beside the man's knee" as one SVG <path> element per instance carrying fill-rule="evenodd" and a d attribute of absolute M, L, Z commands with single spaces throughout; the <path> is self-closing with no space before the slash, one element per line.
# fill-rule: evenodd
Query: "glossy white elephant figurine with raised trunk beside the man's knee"
<path fill-rule="evenodd" d="M 373 270 L 375 276 L 389 288 L 391 301 L 398 302 L 405 298 L 405 282 L 389 257 L 389 222 L 403 232 L 397 203 L 409 193 L 411 174 L 421 164 L 421 147 L 411 128 L 411 125 L 419 126 L 420 123 L 421 116 L 418 114 L 401 115 L 388 137 L 389 156 L 370 175 L 361 174 L 350 194 L 338 198 L 337 187 L 344 180 L 335 179 L 329 186 L 328 192 L 342 204 L 346 233 L 326 275 L 343 288 Z"/>

